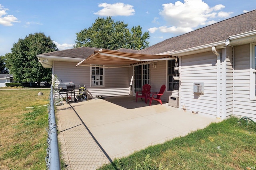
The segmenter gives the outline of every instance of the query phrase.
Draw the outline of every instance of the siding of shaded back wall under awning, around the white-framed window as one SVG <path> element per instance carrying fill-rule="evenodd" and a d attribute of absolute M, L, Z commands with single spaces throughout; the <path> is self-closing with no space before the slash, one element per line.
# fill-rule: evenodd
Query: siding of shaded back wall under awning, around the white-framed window
<path fill-rule="evenodd" d="M 90 67 L 77 66 L 72 62 L 54 62 L 53 74 L 57 76 L 56 87 L 60 82 L 73 82 L 76 92 L 80 84 L 84 84 L 92 97 L 129 95 L 129 68 L 105 68 L 104 86 L 90 86 Z"/>

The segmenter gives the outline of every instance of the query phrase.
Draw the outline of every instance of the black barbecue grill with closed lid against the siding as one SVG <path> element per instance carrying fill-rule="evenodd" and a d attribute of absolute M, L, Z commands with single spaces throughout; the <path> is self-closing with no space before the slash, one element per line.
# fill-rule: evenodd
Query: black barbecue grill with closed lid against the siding
<path fill-rule="evenodd" d="M 65 83 L 60 83 L 58 85 L 58 91 L 59 91 L 59 98 L 60 98 L 60 94 L 66 94 L 66 102 L 68 104 L 68 100 L 73 101 L 73 93 L 74 93 L 74 101 L 76 102 L 76 98 L 75 98 L 75 88 L 76 85 L 72 82 L 65 82 Z M 71 98 L 70 96 L 68 96 L 68 93 L 71 93 Z"/>

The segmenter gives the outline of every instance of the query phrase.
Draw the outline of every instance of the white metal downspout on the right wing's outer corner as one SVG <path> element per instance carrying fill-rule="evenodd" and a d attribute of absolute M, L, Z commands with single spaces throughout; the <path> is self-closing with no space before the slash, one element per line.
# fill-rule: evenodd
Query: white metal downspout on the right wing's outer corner
<path fill-rule="evenodd" d="M 212 53 L 217 56 L 216 117 L 220 118 L 220 53 L 216 51 L 215 47 L 212 47 Z"/>

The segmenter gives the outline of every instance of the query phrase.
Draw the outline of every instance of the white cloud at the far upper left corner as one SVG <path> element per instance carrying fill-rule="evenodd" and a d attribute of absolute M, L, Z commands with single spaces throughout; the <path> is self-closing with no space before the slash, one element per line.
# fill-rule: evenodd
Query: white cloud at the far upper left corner
<path fill-rule="evenodd" d="M 0 4 L 0 24 L 4 26 L 12 26 L 13 22 L 20 22 L 15 16 L 7 15 L 6 11 L 8 10 L 8 8 L 4 8 L 4 6 Z"/>

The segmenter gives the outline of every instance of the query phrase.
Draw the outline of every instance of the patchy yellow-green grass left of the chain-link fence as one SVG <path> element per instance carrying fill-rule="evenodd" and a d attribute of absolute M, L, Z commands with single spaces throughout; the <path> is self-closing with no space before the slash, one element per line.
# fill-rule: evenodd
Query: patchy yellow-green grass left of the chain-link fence
<path fill-rule="evenodd" d="M 48 110 L 37 106 L 49 103 L 49 93 L 50 89 L 0 90 L 1 170 L 46 169 Z"/>

